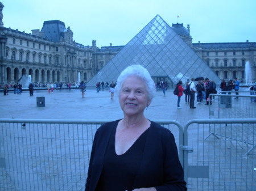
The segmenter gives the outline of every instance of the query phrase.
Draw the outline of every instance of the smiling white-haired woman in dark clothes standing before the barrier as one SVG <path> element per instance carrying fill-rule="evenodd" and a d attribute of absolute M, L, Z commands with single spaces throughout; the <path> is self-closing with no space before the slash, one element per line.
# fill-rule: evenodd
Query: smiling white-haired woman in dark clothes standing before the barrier
<path fill-rule="evenodd" d="M 115 88 L 123 118 L 97 130 L 85 190 L 187 190 L 174 135 L 144 117 L 155 93 L 148 71 L 127 67 Z"/>

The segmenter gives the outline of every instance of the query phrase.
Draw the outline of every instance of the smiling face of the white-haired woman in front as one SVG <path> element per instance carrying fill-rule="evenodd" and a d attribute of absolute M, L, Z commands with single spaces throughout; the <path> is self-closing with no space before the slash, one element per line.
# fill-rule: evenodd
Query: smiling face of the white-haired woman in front
<path fill-rule="evenodd" d="M 119 94 L 119 104 L 128 116 L 143 114 L 150 105 L 146 83 L 138 77 L 127 77 L 122 84 Z"/>

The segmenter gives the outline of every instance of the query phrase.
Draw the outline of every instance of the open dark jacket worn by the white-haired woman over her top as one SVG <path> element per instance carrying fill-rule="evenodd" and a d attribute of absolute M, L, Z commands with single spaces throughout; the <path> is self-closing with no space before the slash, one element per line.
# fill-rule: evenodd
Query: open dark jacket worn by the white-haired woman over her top
<path fill-rule="evenodd" d="M 119 120 L 102 125 L 95 134 L 85 191 L 96 189 L 106 147 L 118 122 Z M 155 187 L 158 191 L 187 190 L 174 135 L 170 130 L 152 121 L 148 130 L 141 167 L 135 177 L 133 188 Z"/>

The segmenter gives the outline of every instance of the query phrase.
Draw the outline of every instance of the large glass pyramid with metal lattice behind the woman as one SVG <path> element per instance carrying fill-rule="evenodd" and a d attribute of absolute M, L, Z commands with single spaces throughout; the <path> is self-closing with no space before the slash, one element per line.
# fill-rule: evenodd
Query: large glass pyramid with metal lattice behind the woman
<path fill-rule="evenodd" d="M 176 84 L 188 79 L 204 77 L 220 83 L 220 78 L 185 43 L 183 39 L 156 15 L 112 60 L 110 60 L 87 86 L 96 82 L 117 81 L 119 74 L 130 65 L 139 64 L 149 71 L 155 80 L 168 80 Z"/>

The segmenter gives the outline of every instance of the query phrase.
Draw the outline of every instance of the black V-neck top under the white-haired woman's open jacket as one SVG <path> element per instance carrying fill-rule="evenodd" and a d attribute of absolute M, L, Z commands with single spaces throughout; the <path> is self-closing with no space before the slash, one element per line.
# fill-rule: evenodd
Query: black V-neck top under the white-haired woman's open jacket
<path fill-rule="evenodd" d="M 106 149 L 103 169 L 96 191 L 130 191 L 134 189 L 134 178 L 142 162 L 148 129 L 124 154 L 117 155 L 115 152 L 117 125 L 115 126 Z"/>

